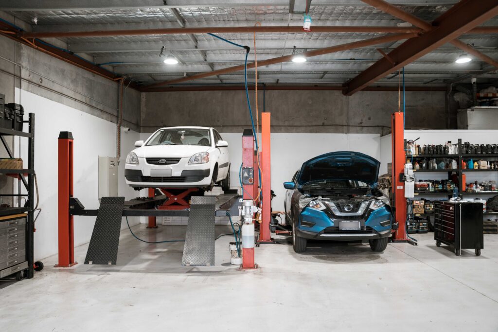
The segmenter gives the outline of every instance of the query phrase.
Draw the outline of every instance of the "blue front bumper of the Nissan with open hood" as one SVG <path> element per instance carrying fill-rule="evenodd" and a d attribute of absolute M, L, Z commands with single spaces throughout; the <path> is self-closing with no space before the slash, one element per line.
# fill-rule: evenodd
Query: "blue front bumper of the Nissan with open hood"
<path fill-rule="evenodd" d="M 362 228 L 358 230 L 339 229 L 339 221 L 342 219 L 330 218 L 325 212 L 311 208 L 305 208 L 299 216 L 299 223 L 295 232 L 299 237 L 320 240 L 371 240 L 388 237 L 391 234 L 391 213 L 386 208 L 380 208 L 372 213 L 366 220 L 361 221 Z M 345 220 L 350 221 L 350 220 Z M 385 224 L 382 226 L 380 222 Z M 306 226 L 307 225 L 307 226 Z"/>

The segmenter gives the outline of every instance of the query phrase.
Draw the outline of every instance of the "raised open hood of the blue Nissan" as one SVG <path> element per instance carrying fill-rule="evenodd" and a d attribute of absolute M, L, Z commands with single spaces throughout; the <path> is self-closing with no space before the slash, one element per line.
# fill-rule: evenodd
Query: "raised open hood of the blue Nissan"
<path fill-rule="evenodd" d="M 322 154 L 303 163 L 299 186 L 316 180 L 356 180 L 377 182 L 380 162 L 360 152 L 339 151 Z"/>

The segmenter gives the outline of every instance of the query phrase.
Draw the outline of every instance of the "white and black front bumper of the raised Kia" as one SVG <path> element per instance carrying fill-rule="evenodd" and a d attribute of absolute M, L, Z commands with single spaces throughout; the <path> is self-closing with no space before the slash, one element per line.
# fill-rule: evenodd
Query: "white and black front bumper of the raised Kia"
<path fill-rule="evenodd" d="M 190 158 L 181 158 L 177 164 L 159 166 L 147 164 L 145 158 L 138 159 L 138 165 L 124 167 L 126 184 L 132 187 L 190 188 L 211 184 L 211 162 L 189 165 Z"/>

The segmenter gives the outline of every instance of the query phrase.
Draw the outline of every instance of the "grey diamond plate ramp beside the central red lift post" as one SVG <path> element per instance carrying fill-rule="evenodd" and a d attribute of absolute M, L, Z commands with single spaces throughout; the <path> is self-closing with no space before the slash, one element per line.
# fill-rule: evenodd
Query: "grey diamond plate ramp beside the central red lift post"
<path fill-rule="evenodd" d="M 215 265 L 215 196 L 193 196 L 182 265 Z"/>

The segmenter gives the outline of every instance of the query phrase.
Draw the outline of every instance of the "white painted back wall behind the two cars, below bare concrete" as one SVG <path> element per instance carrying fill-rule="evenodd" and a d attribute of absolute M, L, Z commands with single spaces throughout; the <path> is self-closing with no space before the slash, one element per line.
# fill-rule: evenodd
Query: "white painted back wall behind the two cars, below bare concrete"
<path fill-rule="evenodd" d="M 239 168 L 242 163 L 242 133 L 220 133 L 228 141 L 230 152 L 232 188 L 239 185 Z M 140 133 L 147 139 L 151 133 Z M 260 139 L 258 140 L 260 141 Z M 357 151 L 380 160 L 379 134 L 339 133 L 274 133 L 271 134 L 271 189 L 277 197 L 272 202 L 274 210 L 284 209 L 283 183 L 290 181 L 295 171 L 306 160 L 332 151 Z"/>

